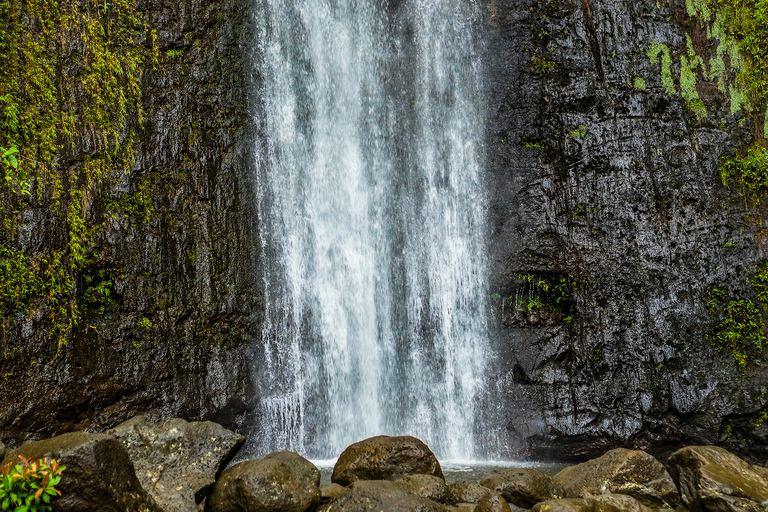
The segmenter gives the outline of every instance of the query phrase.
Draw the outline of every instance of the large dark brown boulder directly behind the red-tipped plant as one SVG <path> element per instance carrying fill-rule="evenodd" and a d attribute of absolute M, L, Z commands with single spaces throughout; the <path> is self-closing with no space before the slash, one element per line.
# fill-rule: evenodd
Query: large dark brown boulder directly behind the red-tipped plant
<path fill-rule="evenodd" d="M 107 434 L 73 432 L 30 441 L 6 454 L 0 465 L 52 458 L 66 467 L 57 489 L 60 512 L 162 512 L 141 486 L 123 445 Z"/>

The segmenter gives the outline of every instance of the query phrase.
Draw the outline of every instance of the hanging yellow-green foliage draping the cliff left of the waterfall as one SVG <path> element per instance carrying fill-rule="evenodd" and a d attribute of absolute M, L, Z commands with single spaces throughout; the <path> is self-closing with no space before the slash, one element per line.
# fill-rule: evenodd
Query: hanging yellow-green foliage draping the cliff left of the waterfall
<path fill-rule="evenodd" d="M 18 311 L 20 300 L 39 298 L 60 349 L 82 314 L 78 296 L 91 303 L 107 291 L 104 280 L 85 293 L 78 283 L 104 226 L 96 205 L 120 202 L 99 198 L 133 163 L 144 117 L 141 69 L 157 62 L 155 34 L 135 0 L 5 0 L 0 20 L 0 244 L 14 244 L 17 217 L 34 203 L 56 212 L 52 228 L 66 233 L 63 244 L 26 259 L 21 277 L 0 275 L 0 288 L 10 279 L 28 291 L 4 293 L 0 309 Z M 140 204 L 126 203 L 142 216 L 153 212 L 147 190 L 138 194 Z M 0 267 L 21 271 L 17 256 L 0 253 Z"/>

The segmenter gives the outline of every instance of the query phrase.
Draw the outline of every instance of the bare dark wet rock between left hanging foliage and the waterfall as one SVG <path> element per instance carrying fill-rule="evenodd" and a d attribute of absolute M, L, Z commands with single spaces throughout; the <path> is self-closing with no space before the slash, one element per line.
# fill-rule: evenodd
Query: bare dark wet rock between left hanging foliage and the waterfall
<path fill-rule="evenodd" d="M 229 428 L 247 421 L 259 357 L 245 347 L 262 309 L 240 46 L 250 13 L 234 1 L 139 8 L 157 32 L 159 61 L 146 63 L 146 121 L 119 188 L 135 192 L 148 180 L 155 214 L 117 218 L 96 240 L 118 269 L 113 300 L 102 315 L 86 312 L 58 357 L 44 315 L 8 334 L 15 348 L 0 366 L 18 379 L 0 379 L 0 438 L 10 446 L 147 411 Z M 25 218 L 25 249 L 48 243 L 46 212 Z M 151 326 L 139 325 L 144 318 Z"/>

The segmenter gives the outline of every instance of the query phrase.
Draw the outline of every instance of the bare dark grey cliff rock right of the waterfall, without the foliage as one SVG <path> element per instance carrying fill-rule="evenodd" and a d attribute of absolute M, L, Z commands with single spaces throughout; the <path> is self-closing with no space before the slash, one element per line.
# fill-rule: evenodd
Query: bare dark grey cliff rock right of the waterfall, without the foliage
<path fill-rule="evenodd" d="M 754 300 L 766 259 L 762 210 L 718 173 L 762 122 L 732 113 L 701 71 L 694 89 L 680 80 L 694 53 L 714 68 L 718 40 L 682 2 L 489 8 L 491 288 L 566 278 L 576 311 L 541 326 L 497 304 L 510 445 L 579 457 L 726 444 L 764 458 L 763 351 L 740 347 L 740 366 L 706 338 L 706 292 Z M 660 45 L 671 65 L 648 51 Z"/>

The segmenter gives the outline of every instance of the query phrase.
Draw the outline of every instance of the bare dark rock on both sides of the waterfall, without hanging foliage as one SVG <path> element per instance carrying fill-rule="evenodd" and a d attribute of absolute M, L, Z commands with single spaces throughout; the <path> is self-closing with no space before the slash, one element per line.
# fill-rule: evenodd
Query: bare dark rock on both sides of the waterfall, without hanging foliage
<path fill-rule="evenodd" d="M 705 66 L 718 55 L 706 24 L 679 0 L 482 4 L 499 353 L 488 421 L 504 425 L 511 452 L 534 457 L 724 444 L 764 458 L 762 351 L 744 348 L 739 366 L 706 338 L 722 321 L 706 292 L 754 299 L 750 279 L 768 258 L 762 210 L 718 174 L 718 158 L 762 124 L 732 112 L 701 70 L 691 89 L 691 52 Z M 147 121 L 120 186 L 153 179 L 156 214 L 118 219 L 98 240 L 120 269 L 114 301 L 53 363 L 39 360 L 44 333 L 14 333 L 0 380 L 7 444 L 146 411 L 237 428 L 257 409 L 258 127 L 247 91 L 258 13 L 232 1 L 140 7 L 160 58 L 147 65 Z M 567 311 L 549 320 L 515 304 L 541 280 L 564 286 Z"/>

